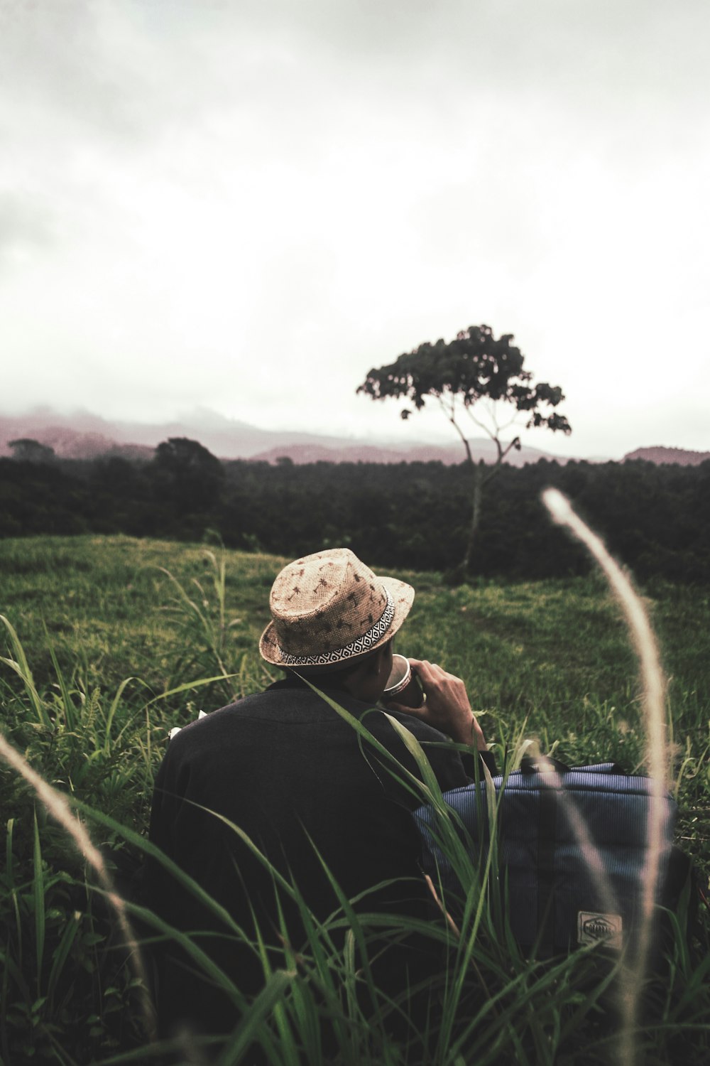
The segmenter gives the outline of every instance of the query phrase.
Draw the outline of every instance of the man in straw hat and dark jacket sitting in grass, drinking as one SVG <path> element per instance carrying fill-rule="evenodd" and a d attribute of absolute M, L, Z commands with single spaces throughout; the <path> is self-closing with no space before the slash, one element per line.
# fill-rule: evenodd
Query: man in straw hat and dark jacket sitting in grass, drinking
<path fill-rule="evenodd" d="M 318 922 L 343 899 L 356 901 L 359 911 L 429 912 L 410 813 L 420 796 L 332 706 L 362 722 L 420 779 L 392 723 L 371 710 L 387 684 L 393 637 L 413 598 L 410 585 L 376 577 L 346 548 L 296 560 L 274 582 L 273 620 L 260 643 L 262 657 L 283 668 L 284 679 L 191 724 L 170 742 L 155 780 L 150 839 L 242 932 L 230 930 L 155 860 L 146 868 L 146 902 L 189 933 L 246 996 L 263 985 L 265 960 L 283 967 L 284 943 L 298 950 L 306 939 L 298 903 L 279 875 Z M 425 745 L 442 790 L 466 785 L 476 772 L 476 750 L 489 764 L 492 757 L 464 683 L 435 664 L 410 662 L 425 701 L 416 709 L 389 704 L 387 713 Z M 447 738 L 469 752 L 462 755 Z M 415 954 L 385 952 L 383 985 L 403 987 Z M 196 970 L 172 943 L 158 957 L 166 1033 L 183 1025 L 225 1032 L 238 1020 L 238 997 L 218 994 Z"/>

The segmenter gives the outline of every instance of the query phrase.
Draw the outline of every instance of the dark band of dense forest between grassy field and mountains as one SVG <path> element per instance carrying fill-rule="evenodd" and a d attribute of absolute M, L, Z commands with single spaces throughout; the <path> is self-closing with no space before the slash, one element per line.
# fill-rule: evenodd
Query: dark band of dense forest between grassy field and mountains
<path fill-rule="evenodd" d="M 122 458 L 0 459 L 0 535 L 128 533 L 296 556 L 348 545 L 381 566 L 449 570 L 463 555 L 470 469 L 441 463 L 220 463 L 196 441 Z M 710 462 L 656 466 L 541 459 L 485 489 L 473 572 L 541 578 L 589 569 L 540 499 L 552 485 L 642 580 L 710 583 Z"/>

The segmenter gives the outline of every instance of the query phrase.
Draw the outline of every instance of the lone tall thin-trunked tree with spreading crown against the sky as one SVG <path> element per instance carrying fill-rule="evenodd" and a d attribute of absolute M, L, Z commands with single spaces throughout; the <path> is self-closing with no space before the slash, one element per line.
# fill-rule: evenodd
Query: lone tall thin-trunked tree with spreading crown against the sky
<path fill-rule="evenodd" d="M 507 442 L 502 434 L 521 416 L 525 427 L 546 426 L 552 432 L 572 433 L 564 415 L 554 409 L 564 400 L 557 385 L 541 382 L 532 385 L 532 374 L 523 369 L 525 357 L 511 343 L 512 334 L 498 340 L 490 326 L 468 326 L 448 343 L 426 341 L 413 352 L 404 352 L 394 362 L 370 370 L 358 392 L 373 400 L 409 400 L 416 410 L 425 406 L 428 397 L 436 400 L 444 415 L 459 434 L 473 473 L 473 508 L 463 561 L 458 568 L 463 577 L 469 568 L 481 517 L 483 488 L 495 477 L 511 451 L 521 450 L 521 438 Z M 509 404 L 503 408 L 503 404 Z M 510 417 L 500 424 L 498 416 L 506 409 Z M 407 419 L 410 407 L 400 413 Z M 475 462 L 465 419 L 483 430 L 496 446 L 496 461 L 486 465 Z M 468 431 L 470 432 L 470 431 Z"/>

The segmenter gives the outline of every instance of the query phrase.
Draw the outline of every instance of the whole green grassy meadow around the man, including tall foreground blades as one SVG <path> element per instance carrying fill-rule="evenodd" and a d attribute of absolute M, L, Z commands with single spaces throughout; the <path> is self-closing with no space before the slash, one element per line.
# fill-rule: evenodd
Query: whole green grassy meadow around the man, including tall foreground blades
<path fill-rule="evenodd" d="M 257 645 L 284 562 L 127 536 L 0 540 L 2 733 L 76 804 L 129 895 L 169 729 L 277 677 Z M 377 572 L 377 560 L 367 562 Z M 637 658 L 601 577 L 481 579 L 450 588 L 439 574 L 396 576 L 416 588 L 397 650 L 464 678 L 499 765 L 510 766 L 529 741 L 567 763 L 615 760 L 629 772 L 643 770 Z M 667 681 L 677 838 L 707 888 L 710 596 L 707 588 L 662 582 L 641 594 Z M 0 801 L 0 1066 L 163 1061 L 165 1049 L 148 1043 L 141 979 L 92 869 L 2 763 Z M 380 1002 L 368 1013 L 352 991 L 366 973 L 354 955 L 336 957 L 329 930 L 318 928 L 298 965 L 284 949 L 283 959 L 265 966 L 262 998 L 243 1005 L 243 1022 L 217 1061 L 246 1063 L 254 1043 L 269 1062 L 284 1064 L 551 1066 L 623 1056 L 615 1007 L 606 1002 L 617 979 L 611 964 L 601 965 L 594 952 L 557 968 L 522 958 L 488 891 L 491 871 L 469 875 L 479 891 L 472 892 L 457 946 L 447 940 L 446 922 L 431 932 L 453 953 L 449 976 L 440 975 L 441 1024 L 423 1019 L 406 1037 L 387 1035 L 387 1017 L 406 1013 L 407 1002 Z M 142 936 L 166 935 L 146 932 L 146 916 L 135 916 Z M 663 991 L 651 989 L 656 999 L 633 1031 L 639 1066 L 710 1059 L 707 919 L 700 903 L 690 944 L 678 925 Z M 354 918 L 350 923 L 358 950 L 366 952 L 371 931 Z M 479 1002 L 481 975 L 491 1010 Z M 314 1023 L 324 1012 L 337 1034 L 335 1057 Z"/>

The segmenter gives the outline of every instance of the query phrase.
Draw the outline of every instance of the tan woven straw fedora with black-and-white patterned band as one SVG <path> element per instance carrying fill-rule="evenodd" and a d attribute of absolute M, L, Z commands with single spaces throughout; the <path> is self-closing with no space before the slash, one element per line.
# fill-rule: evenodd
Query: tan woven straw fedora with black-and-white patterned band
<path fill-rule="evenodd" d="M 274 666 L 345 664 L 391 640 L 413 599 L 411 585 L 376 577 L 349 548 L 304 555 L 271 586 L 259 650 Z"/>

